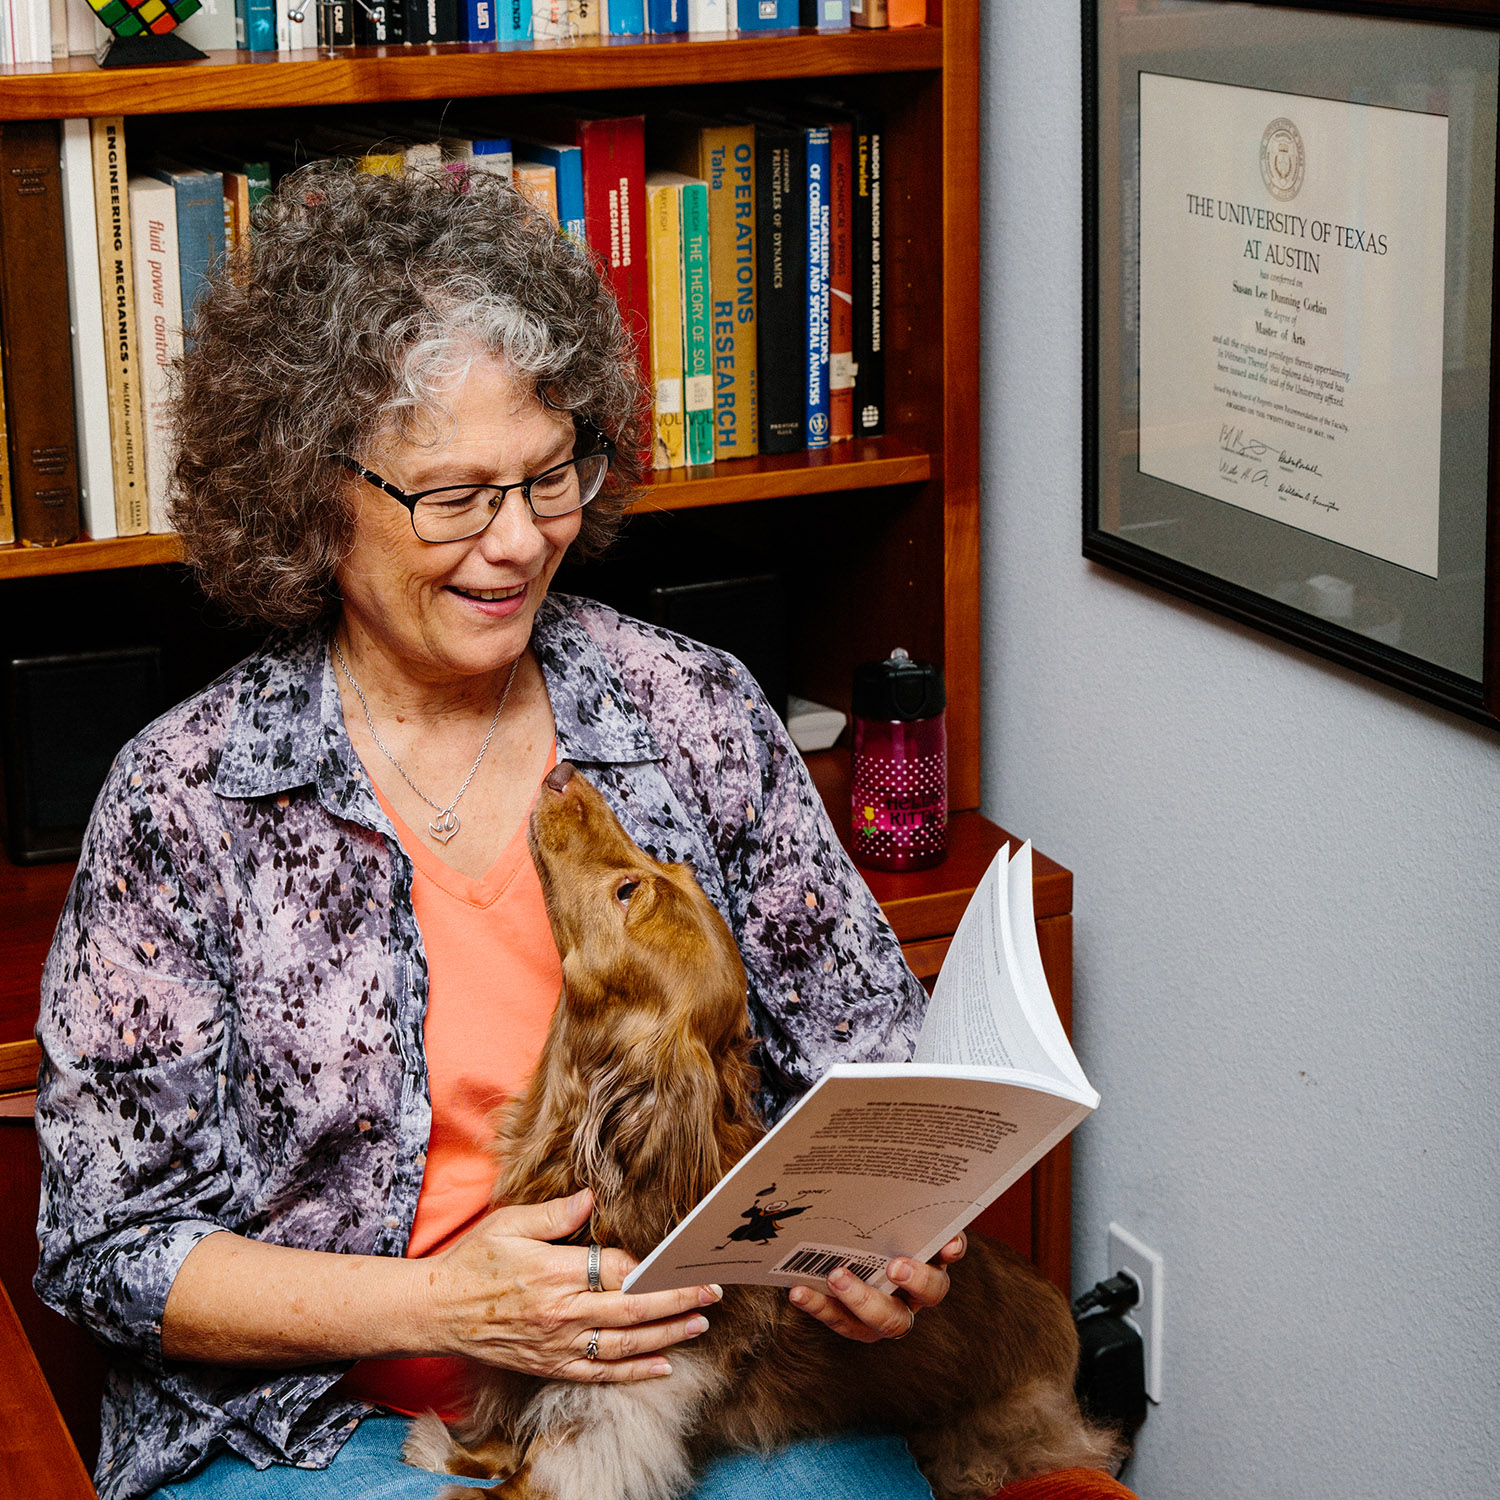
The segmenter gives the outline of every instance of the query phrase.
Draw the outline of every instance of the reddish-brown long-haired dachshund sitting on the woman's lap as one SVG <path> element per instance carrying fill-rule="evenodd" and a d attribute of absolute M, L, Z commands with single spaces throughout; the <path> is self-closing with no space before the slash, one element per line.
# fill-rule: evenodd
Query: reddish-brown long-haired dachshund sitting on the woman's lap
<path fill-rule="evenodd" d="M 564 994 L 501 1131 L 496 1203 L 592 1190 L 592 1236 L 645 1257 L 756 1143 L 746 975 L 681 864 L 658 864 L 566 762 L 530 826 Z M 861 1426 L 903 1434 L 938 1500 L 1106 1467 L 1072 1394 L 1077 1336 L 1024 1260 L 975 1239 L 898 1347 L 844 1340 L 768 1287 L 726 1287 L 672 1376 L 622 1384 L 482 1370 L 466 1419 L 423 1418 L 408 1462 L 504 1500 L 675 1500 L 708 1458 Z"/>

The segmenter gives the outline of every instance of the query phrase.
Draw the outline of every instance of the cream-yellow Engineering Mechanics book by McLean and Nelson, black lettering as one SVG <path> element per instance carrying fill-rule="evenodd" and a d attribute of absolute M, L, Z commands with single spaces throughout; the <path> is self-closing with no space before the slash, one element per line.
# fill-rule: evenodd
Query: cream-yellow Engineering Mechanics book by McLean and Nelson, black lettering
<path fill-rule="evenodd" d="M 110 447 L 114 454 L 117 534 L 147 530 L 146 414 L 141 410 L 140 344 L 135 333 L 135 267 L 130 255 L 130 200 L 124 122 L 92 122 L 94 218 L 99 236 L 99 286 L 104 298 L 105 370 L 110 380 Z"/>

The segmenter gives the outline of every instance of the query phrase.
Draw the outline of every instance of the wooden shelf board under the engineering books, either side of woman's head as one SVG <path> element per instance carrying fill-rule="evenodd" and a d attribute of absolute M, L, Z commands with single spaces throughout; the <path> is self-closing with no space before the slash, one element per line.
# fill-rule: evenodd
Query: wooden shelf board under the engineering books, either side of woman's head
<path fill-rule="evenodd" d="M 646 480 L 634 508 L 692 510 L 700 506 L 738 506 L 747 500 L 920 484 L 932 477 L 932 458 L 926 453 L 890 438 L 862 438 L 816 453 L 782 453 L 690 470 L 662 470 Z M 111 542 L 69 542 L 62 548 L 9 546 L 0 548 L 0 582 L 182 560 L 182 543 L 170 532 L 118 537 Z"/>

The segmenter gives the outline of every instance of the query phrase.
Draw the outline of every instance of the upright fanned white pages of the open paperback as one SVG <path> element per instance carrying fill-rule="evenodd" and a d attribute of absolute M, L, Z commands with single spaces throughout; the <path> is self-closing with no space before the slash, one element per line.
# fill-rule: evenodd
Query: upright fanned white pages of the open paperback
<path fill-rule="evenodd" d="M 1056 1042 L 1065 1048 L 1068 1042 L 1041 972 L 1041 956 L 1035 969 L 1020 958 L 1023 946 L 1036 945 L 1032 910 L 1030 844 L 1016 861 L 1008 858 L 1008 849 L 1000 849 L 969 898 L 944 958 L 916 1042 L 916 1062 L 1020 1068 L 1074 1083 L 1083 1078 L 1076 1060 L 1071 1068 L 1059 1066 L 1054 1056 Z M 1023 934 L 1022 942 L 1016 932 Z M 1022 999 L 1024 988 L 1035 992 L 1030 1006 Z M 1050 1048 L 1034 1023 L 1034 1016 L 1046 1012 L 1056 1028 Z M 1066 1056 L 1072 1059 L 1071 1048 Z"/>

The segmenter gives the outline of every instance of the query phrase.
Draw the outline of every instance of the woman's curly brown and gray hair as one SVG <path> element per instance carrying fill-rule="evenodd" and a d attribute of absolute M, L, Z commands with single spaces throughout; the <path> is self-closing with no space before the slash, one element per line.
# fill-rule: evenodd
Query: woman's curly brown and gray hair
<path fill-rule="evenodd" d="M 478 351 L 615 441 L 580 552 L 609 542 L 645 477 L 648 394 L 612 292 L 489 174 L 300 168 L 188 334 L 172 525 L 204 591 L 242 620 L 291 627 L 336 606 L 354 498 L 330 454 L 441 420 L 441 393 Z"/>

